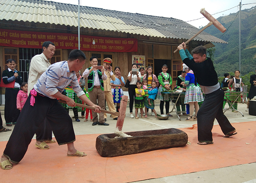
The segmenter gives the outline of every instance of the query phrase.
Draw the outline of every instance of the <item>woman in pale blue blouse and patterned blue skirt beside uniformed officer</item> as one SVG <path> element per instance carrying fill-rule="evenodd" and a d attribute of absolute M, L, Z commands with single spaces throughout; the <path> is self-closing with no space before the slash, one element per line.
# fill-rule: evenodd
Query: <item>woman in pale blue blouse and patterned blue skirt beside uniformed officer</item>
<path fill-rule="evenodd" d="M 125 86 L 125 79 L 121 76 L 120 67 L 114 69 L 116 80 L 110 80 L 112 86 L 112 95 L 114 103 L 116 103 L 116 112 L 119 112 L 120 103 L 123 96 L 122 86 Z"/>

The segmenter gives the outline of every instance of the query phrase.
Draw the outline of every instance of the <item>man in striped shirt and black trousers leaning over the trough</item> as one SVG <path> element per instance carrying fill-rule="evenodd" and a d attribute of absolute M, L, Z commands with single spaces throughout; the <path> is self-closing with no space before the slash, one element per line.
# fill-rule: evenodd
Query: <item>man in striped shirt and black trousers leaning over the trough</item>
<path fill-rule="evenodd" d="M 64 88 L 71 84 L 82 101 L 95 107 L 95 112 L 100 111 L 101 108 L 86 97 L 75 74 L 83 67 L 85 59 L 82 51 L 73 50 L 67 61 L 52 64 L 38 79 L 7 142 L 0 160 L 2 169 L 11 169 L 11 162 L 21 161 L 35 132 L 42 128 L 45 118 L 52 127 L 58 144 L 67 144 L 67 156 L 86 156 L 84 152 L 75 149 L 72 119 L 57 100 L 62 99 L 69 106 L 76 106 L 73 99 L 61 94 Z"/>

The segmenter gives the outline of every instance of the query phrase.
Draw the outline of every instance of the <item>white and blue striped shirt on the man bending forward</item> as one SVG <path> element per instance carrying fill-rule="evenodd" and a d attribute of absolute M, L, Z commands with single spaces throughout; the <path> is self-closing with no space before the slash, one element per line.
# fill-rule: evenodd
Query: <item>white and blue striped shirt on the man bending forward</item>
<path fill-rule="evenodd" d="M 76 72 L 70 72 L 67 61 L 62 61 L 50 65 L 38 79 L 34 89 L 44 96 L 55 99 L 52 95 L 58 91 L 62 93 L 69 84 L 78 97 L 85 94 L 78 83 Z"/>

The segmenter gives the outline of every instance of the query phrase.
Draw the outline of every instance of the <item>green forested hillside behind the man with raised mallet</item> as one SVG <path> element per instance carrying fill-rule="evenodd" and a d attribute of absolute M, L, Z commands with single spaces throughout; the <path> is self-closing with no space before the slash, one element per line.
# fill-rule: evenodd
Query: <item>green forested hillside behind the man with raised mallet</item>
<path fill-rule="evenodd" d="M 220 32 L 214 26 L 204 30 L 228 42 L 228 44 L 213 43 L 216 48 L 214 66 L 218 76 L 223 76 L 225 72 L 234 72 L 239 69 L 239 14 L 237 17 L 236 15 L 237 13 L 234 13 L 217 19 L 226 27 L 227 31 L 225 33 Z M 241 14 L 241 75 L 255 71 L 255 68 L 256 6 L 242 10 Z"/>

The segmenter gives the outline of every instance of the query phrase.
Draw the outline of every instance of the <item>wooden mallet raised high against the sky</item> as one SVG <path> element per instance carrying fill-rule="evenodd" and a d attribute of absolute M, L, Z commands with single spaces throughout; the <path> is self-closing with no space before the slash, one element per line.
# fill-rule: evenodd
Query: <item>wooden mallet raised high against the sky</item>
<path fill-rule="evenodd" d="M 197 32 L 194 36 L 192 36 L 192 38 L 190 38 L 189 40 L 187 40 L 185 42 L 185 44 L 189 43 L 192 39 L 194 39 L 198 34 L 200 34 L 202 31 L 204 31 L 204 29 L 206 29 L 207 27 L 211 26 L 212 24 L 219 29 L 222 33 L 225 32 L 227 29 L 221 25 L 221 23 L 219 21 L 217 21 L 211 14 L 209 14 L 206 10 L 204 10 L 204 8 L 202 8 L 200 10 L 200 13 L 202 15 L 204 15 L 204 17 L 206 17 L 206 19 L 208 19 L 210 22 L 209 24 L 207 24 L 204 28 L 202 28 L 199 32 Z M 176 49 L 173 53 L 176 53 L 176 51 L 178 51 L 178 49 Z"/>

